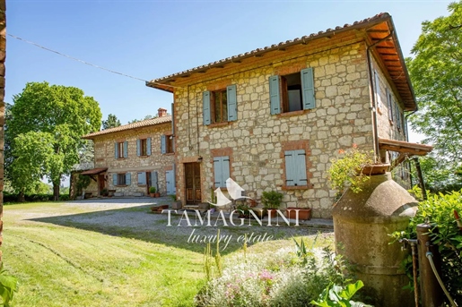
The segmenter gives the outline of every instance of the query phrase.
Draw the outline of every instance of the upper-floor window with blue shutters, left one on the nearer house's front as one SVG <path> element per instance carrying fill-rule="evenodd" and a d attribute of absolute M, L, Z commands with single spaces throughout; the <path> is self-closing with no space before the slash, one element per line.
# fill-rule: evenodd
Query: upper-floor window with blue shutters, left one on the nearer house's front
<path fill-rule="evenodd" d="M 219 124 L 238 119 L 237 87 L 205 91 L 202 96 L 204 124 Z"/>

